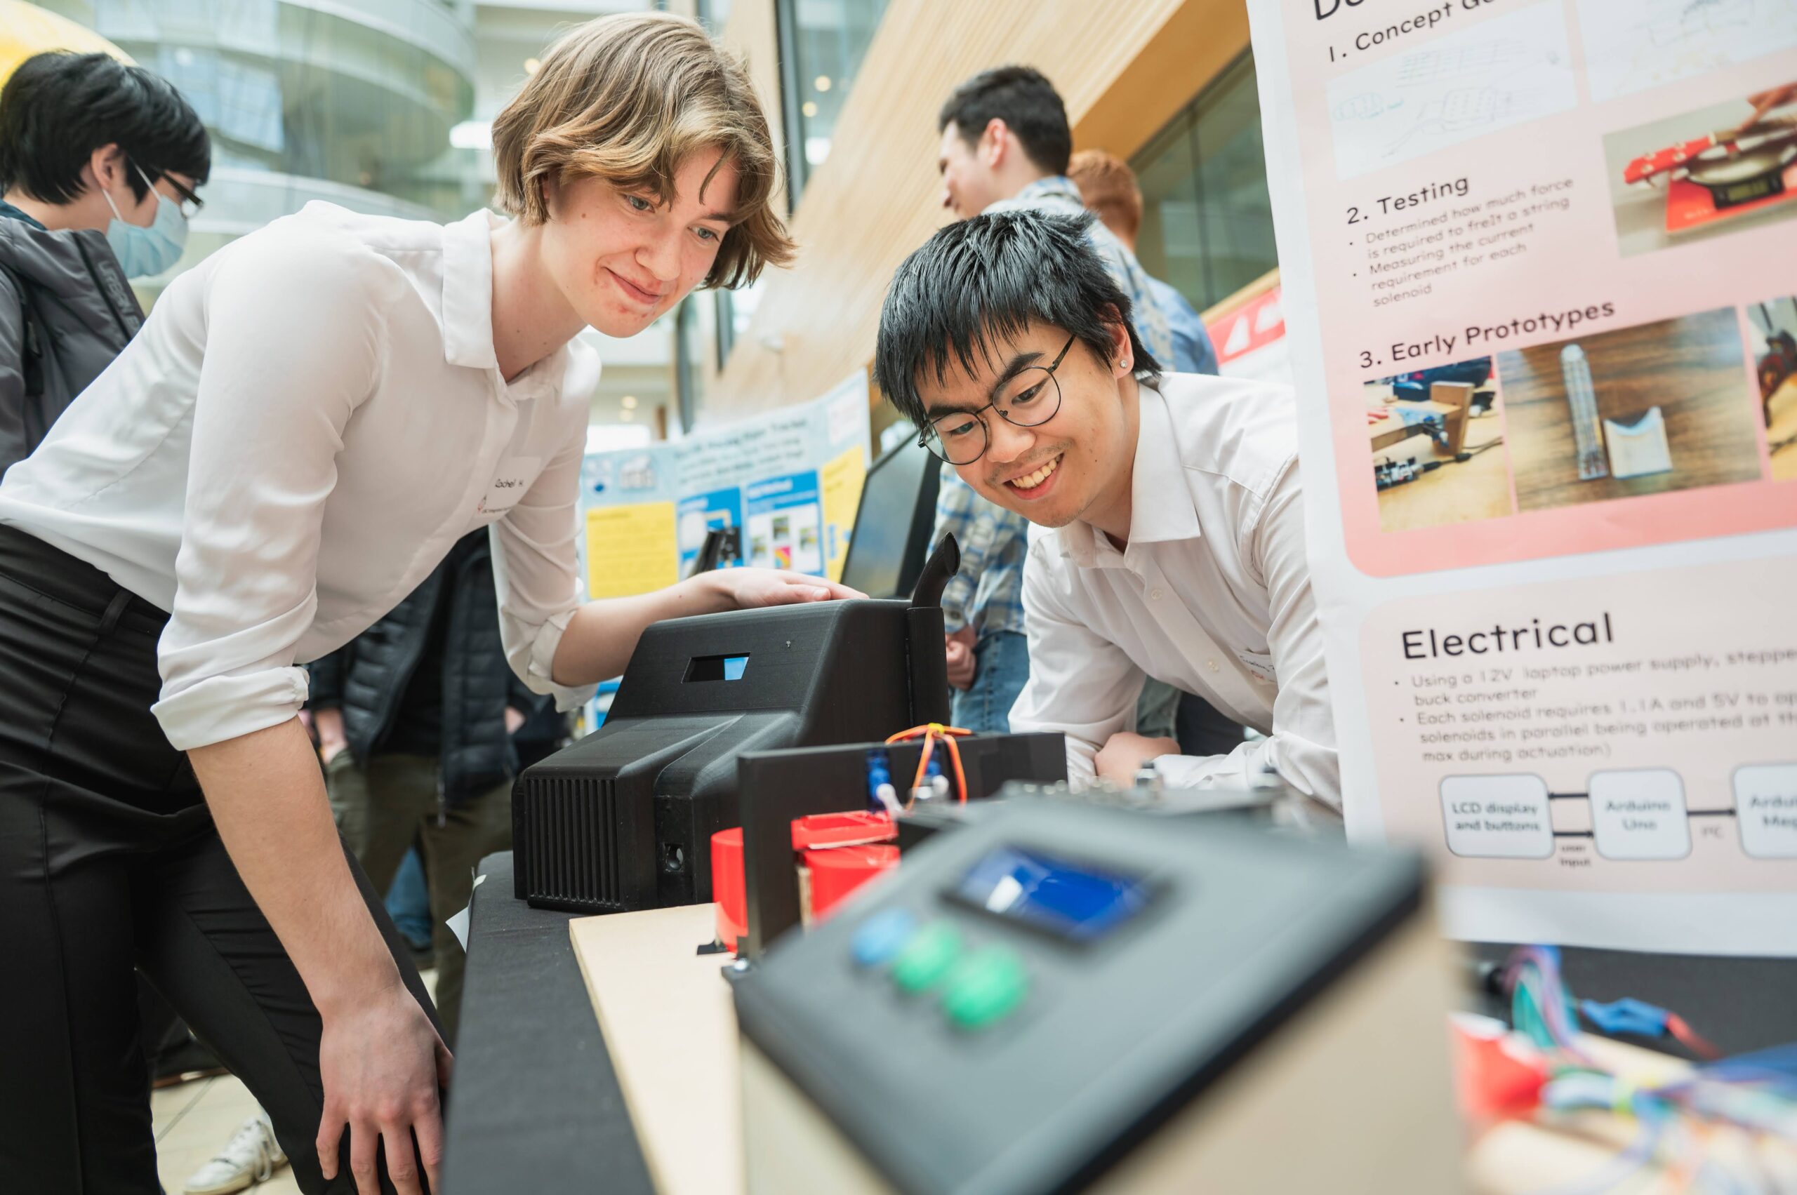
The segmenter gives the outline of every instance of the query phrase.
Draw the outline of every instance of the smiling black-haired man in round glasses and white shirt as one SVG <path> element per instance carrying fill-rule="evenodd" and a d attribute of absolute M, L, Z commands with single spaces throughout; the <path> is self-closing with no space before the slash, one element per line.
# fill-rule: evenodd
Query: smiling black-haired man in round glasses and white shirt
<path fill-rule="evenodd" d="M 1073 776 L 1276 773 L 1339 805 L 1292 394 L 1163 374 L 1091 219 L 949 225 L 898 268 L 881 314 L 881 390 L 963 482 L 1035 525 L 1030 681 L 1010 728 L 1064 731 Z M 1190 757 L 1136 733 L 1145 676 L 1263 737 Z"/>

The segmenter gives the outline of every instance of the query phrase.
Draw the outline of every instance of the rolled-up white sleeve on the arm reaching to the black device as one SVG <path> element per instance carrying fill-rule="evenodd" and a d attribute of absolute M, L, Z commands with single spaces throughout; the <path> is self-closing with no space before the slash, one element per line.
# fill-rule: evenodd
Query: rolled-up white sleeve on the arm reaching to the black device
<path fill-rule="evenodd" d="M 537 480 L 492 525 L 492 584 L 500 597 L 500 642 L 512 672 L 534 694 L 555 697 L 557 710 L 588 701 L 597 685 L 568 686 L 553 679 L 555 649 L 568 620 L 580 609 L 580 460 L 586 426 L 570 431 L 564 447 Z"/>

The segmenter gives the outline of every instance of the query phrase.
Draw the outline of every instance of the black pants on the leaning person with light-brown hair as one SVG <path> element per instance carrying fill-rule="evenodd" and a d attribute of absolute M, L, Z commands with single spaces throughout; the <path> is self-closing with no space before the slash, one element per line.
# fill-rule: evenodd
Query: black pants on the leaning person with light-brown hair
<path fill-rule="evenodd" d="M 165 622 L 0 527 L 0 1191 L 160 1190 L 133 970 L 262 1102 L 300 1188 L 354 1191 L 347 1134 L 331 1186 L 313 1146 L 318 1010 L 149 713 Z M 350 873 L 435 1021 L 354 859 Z"/>

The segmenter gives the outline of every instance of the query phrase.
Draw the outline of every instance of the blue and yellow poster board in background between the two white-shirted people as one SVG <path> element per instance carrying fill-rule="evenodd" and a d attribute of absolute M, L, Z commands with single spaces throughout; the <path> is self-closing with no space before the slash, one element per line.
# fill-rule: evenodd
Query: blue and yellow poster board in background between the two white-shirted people
<path fill-rule="evenodd" d="M 706 532 L 742 528 L 742 564 L 839 579 L 868 474 L 868 377 L 685 440 L 591 453 L 586 582 L 624 597 L 686 575 Z"/>

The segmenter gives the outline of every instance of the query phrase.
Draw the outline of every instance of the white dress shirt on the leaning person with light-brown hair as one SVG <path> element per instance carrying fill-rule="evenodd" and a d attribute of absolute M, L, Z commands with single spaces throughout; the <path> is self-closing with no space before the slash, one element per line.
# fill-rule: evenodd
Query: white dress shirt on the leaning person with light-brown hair
<path fill-rule="evenodd" d="M 562 708 L 550 661 L 579 606 L 588 395 L 568 345 L 507 385 L 492 219 L 309 203 L 180 275 L 144 329 L 0 485 L 0 521 L 169 611 L 169 742 L 284 722 L 298 661 L 386 615 L 492 528 L 505 654 Z"/>

